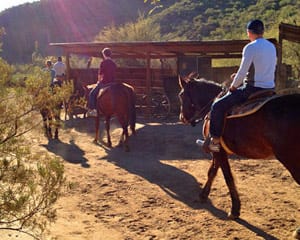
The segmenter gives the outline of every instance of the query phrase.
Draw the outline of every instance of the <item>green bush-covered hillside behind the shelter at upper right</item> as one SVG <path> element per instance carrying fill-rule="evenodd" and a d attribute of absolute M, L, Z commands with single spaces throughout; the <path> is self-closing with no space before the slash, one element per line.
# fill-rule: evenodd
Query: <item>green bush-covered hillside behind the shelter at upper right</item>
<path fill-rule="evenodd" d="M 300 2 L 296 0 L 181 0 L 157 13 L 153 19 L 162 34 L 189 40 L 243 39 L 250 19 L 263 20 L 267 37 L 278 36 L 280 22 L 300 25 Z"/>

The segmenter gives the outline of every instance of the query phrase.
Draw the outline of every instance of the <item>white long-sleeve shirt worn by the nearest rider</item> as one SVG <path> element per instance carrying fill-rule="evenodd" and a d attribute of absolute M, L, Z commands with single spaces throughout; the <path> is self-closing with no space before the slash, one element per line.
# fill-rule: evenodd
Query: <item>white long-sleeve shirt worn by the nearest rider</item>
<path fill-rule="evenodd" d="M 247 84 L 261 88 L 274 88 L 276 61 L 276 48 L 267 39 L 258 38 L 248 43 L 243 49 L 241 65 L 231 86 L 237 88 L 242 85 L 250 67 L 253 67 L 254 77 L 247 79 Z"/>

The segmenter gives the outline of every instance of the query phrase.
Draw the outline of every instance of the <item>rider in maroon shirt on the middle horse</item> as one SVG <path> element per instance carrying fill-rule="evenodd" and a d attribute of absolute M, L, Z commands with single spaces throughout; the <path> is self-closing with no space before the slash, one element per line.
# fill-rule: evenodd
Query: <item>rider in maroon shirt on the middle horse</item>
<path fill-rule="evenodd" d="M 87 113 L 89 117 L 97 116 L 96 102 L 97 102 L 97 95 L 100 89 L 107 86 L 109 83 L 115 81 L 115 73 L 116 73 L 117 65 L 111 58 L 112 55 L 111 49 L 104 48 L 102 50 L 102 55 L 104 60 L 100 63 L 99 66 L 98 82 L 96 87 L 93 88 L 89 94 L 89 100 L 88 100 L 89 111 Z"/>

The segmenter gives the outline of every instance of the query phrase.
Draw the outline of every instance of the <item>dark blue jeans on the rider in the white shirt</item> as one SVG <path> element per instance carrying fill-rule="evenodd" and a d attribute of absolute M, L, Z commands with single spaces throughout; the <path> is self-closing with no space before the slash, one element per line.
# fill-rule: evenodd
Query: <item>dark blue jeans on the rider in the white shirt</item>
<path fill-rule="evenodd" d="M 210 115 L 210 135 L 217 138 L 221 137 L 227 112 L 233 106 L 246 102 L 252 93 L 261 90 L 266 89 L 251 85 L 244 85 L 233 92 L 228 92 L 226 95 L 214 102 L 211 107 Z"/>

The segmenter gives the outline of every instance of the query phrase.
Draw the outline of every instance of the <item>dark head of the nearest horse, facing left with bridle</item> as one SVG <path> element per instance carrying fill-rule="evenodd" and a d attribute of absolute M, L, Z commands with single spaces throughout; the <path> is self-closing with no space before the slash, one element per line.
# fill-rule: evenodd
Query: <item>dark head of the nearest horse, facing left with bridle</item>
<path fill-rule="evenodd" d="M 205 79 L 179 76 L 180 115 L 185 124 L 195 124 L 209 112 L 213 100 L 222 90 L 222 86 Z"/>

